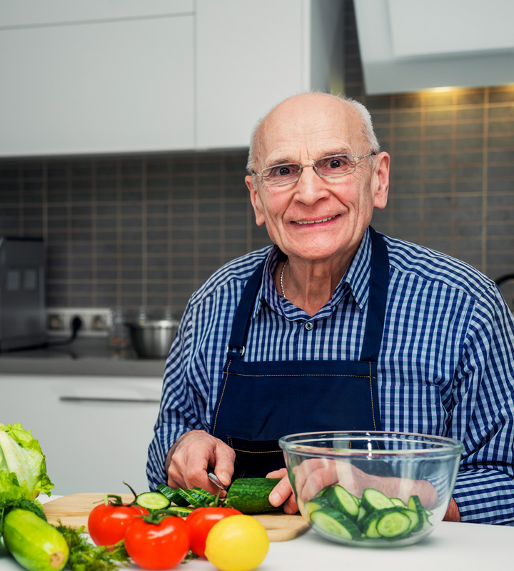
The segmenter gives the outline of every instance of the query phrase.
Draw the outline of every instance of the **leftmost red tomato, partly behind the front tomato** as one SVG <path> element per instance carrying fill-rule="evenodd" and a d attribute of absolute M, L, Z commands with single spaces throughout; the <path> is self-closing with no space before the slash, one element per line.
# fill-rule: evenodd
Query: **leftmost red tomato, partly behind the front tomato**
<path fill-rule="evenodd" d="M 97 505 L 89 513 L 89 535 L 96 545 L 114 545 L 124 538 L 136 515 L 146 514 L 148 510 L 139 505 Z"/>

